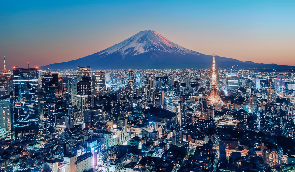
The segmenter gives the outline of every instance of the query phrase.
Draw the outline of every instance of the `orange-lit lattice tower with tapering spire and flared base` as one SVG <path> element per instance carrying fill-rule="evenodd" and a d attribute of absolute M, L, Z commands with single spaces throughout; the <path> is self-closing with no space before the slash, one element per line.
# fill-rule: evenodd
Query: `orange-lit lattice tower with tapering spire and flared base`
<path fill-rule="evenodd" d="M 212 104 L 214 103 L 222 103 L 223 101 L 219 97 L 217 82 L 216 82 L 216 71 L 215 71 L 215 57 L 213 52 L 213 66 L 212 66 L 212 83 L 211 83 L 211 92 L 209 96 L 209 100 L 211 100 Z"/>

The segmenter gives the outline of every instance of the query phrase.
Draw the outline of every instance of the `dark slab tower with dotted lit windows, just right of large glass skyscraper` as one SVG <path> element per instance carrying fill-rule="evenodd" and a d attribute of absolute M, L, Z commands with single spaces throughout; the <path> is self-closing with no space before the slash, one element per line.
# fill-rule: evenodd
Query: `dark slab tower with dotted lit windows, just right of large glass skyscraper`
<path fill-rule="evenodd" d="M 43 102 L 43 134 L 53 134 L 56 131 L 55 103 Z"/>

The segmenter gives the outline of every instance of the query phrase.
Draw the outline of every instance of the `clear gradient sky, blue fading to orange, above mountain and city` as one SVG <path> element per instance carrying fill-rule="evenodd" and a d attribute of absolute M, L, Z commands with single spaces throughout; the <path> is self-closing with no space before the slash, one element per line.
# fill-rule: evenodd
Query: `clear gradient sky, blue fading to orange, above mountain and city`
<path fill-rule="evenodd" d="M 295 66 L 294 7 L 294 0 L 1 1 L 0 61 L 6 56 L 10 70 L 70 61 L 153 30 L 203 54 Z"/>

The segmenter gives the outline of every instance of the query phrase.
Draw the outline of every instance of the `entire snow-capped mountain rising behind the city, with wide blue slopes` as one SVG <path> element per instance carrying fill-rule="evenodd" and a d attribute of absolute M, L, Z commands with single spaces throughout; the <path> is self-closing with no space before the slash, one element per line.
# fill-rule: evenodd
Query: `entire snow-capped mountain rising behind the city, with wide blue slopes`
<path fill-rule="evenodd" d="M 91 66 L 92 69 L 181 69 L 211 68 L 212 55 L 181 47 L 155 31 L 141 31 L 100 52 L 76 60 L 42 66 L 41 69 L 72 69 Z M 242 62 L 215 56 L 216 68 L 294 68 L 277 64 Z"/>

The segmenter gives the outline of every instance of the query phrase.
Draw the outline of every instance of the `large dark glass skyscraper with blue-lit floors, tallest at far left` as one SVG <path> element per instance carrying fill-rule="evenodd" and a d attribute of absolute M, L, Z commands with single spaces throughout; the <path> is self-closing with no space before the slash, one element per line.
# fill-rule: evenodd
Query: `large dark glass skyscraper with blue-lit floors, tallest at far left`
<path fill-rule="evenodd" d="M 15 136 L 39 132 L 37 68 L 13 69 Z"/>

